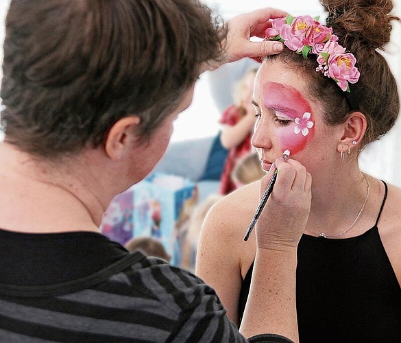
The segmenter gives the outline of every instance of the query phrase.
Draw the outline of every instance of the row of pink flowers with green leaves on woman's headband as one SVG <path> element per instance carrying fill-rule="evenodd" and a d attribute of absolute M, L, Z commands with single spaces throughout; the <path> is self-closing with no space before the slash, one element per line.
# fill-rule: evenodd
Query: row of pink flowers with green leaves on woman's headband
<path fill-rule="evenodd" d="M 319 67 L 328 78 L 335 80 L 343 91 L 350 92 L 348 82 L 359 80 L 359 71 L 355 67 L 356 58 L 339 45 L 339 38 L 332 34 L 332 28 L 322 25 L 319 18 L 311 16 L 287 16 L 274 19 L 271 28 L 266 29 L 267 40 L 280 40 L 292 51 L 308 58 L 308 54 L 317 55 Z"/>

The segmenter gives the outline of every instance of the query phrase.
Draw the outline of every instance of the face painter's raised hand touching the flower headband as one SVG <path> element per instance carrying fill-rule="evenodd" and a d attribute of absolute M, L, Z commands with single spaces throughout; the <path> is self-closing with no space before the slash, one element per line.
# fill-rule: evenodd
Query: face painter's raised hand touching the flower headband
<path fill-rule="evenodd" d="M 263 38 L 265 29 L 271 27 L 270 19 L 281 18 L 287 13 L 273 8 L 256 10 L 241 14 L 228 21 L 228 35 L 226 38 L 226 56 L 221 63 L 205 64 L 203 71 L 215 70 L 223 63 L 241 60 L 244 57 L 260 58 L 282 51 L 283 45 L 279 42 L 263 41 L 251 42 L 251 37 Z"/>

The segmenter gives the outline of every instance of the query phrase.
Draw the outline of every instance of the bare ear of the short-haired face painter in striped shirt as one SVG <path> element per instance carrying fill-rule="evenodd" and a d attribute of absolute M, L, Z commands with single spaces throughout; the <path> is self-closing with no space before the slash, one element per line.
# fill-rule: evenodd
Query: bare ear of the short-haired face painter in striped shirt
<path fill-rule="evenodd" d="M 127 152 L 132 150 L 132 143 L 136 138 L 135 129 L 139 123 L 141 123 L 141 119 L 133 115 L 119 119 L 110 128 L 106 136 L 104 150 L 111 160 L 120 160 Z"/>

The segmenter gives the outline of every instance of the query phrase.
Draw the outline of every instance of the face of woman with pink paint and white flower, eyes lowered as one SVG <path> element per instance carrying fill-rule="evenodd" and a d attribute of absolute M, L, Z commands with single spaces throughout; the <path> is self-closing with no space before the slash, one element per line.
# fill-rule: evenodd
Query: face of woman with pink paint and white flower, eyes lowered
<path fill-rule="evenodd" d="M 258 71 L 254 88 L 258 120 L 252 145 L 258 149 L 264 169 L 284 150 L 290 150 L 291 158 L 304 165 L 311 163 L 308 153 L 326 158 L 326 149 L 336 152 L 329 133 L 332 129 L 324 124 L 321 105 L 308 94 L 306 82 L 301 73 L 280 62 L 264 62 Z"/>

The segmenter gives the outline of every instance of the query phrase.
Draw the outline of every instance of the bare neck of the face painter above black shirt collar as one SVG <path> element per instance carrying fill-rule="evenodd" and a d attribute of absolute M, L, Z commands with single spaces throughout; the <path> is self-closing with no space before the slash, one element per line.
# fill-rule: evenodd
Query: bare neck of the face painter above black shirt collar
<path fill-rule="evenodd" d="M 0 145 L 0 228 L 27 233 L 98 231 L 115 195 L 90 156 L 49 163 Z M 95 191 L 93 191 L 95 189 Z"/>

